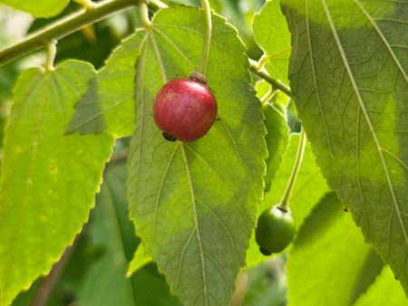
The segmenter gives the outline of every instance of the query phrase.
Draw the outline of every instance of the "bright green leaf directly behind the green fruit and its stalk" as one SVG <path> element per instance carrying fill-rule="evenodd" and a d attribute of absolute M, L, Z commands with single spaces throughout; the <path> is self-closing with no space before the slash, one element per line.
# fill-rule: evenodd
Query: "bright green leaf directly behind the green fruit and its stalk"
<path fill-rule="evenodd" d="M 299 134 L 292 133 L 289 137 L 287 152 L 277 169 L 277 174 L 267 191 L 264 200 L 260 203 L 258 215 L 260 215 L 268 206 L 276 205 L 280 202 L 287 187 L 290 174 L 296 158 L 297 145 L 299 143 Z M 297 175 L 296 183 L 293 186 L 290 197 L 290 210 L 294 216 L 296 227 L 302 225 L 306 215 L 320 201 L 327 192 L 328 187 L 325 184 L 325 178 L 322 177 L 320 169 L 316 166 L 315 156 L 312 153 L 310 144 L 306 143 L 305 153 Z M 255 242 L 252 235 L 250 247 L 247 254 L 247 266 L 256 265 L 267 260 Z"/>

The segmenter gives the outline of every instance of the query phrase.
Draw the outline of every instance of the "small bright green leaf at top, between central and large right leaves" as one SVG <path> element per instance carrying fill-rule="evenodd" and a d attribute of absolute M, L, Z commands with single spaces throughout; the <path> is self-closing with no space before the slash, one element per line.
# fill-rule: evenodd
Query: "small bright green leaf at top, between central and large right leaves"
<path fill-rule="evenodd" d="M 265 53 L 267 72 L 287 84 L 290 32 L 278 0 L 267 1 L 255 15 L 253 28 L 255 40 Z"/>

